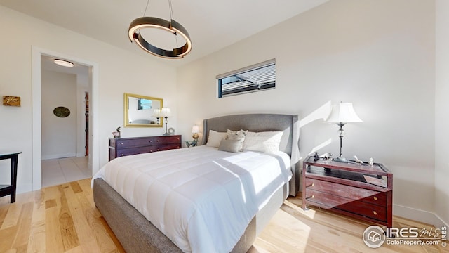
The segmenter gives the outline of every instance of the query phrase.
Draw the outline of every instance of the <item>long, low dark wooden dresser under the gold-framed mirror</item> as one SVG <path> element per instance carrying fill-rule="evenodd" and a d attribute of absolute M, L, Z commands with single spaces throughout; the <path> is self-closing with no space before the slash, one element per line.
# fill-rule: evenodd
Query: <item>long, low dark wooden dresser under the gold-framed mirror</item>
<path fill-rule="evenodd" d="M 152 153 L 181 148 L 181 136 L 109 138 L 109 161 L 125 155 Z"/>

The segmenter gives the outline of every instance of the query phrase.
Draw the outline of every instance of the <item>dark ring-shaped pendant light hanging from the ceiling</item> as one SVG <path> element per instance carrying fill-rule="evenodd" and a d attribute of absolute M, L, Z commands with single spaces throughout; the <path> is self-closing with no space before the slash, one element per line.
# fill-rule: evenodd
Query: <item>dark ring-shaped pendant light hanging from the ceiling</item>
<path fill-rule="evenodd" d="M 153 17 L 136 18 L 135 20 L 133 20 L 133 22 L 131 22 L 129 26 L 128 37 L 131 42 L 135 41 L 135 43 L 138 44 L 138 46 L 140 46 L 140 48 L 142 48 L 147 53 L 152 53 L 153 55 L 162 58 L 172 58 L 172 59 L 184 58 L 184 56 L 187 55 L 187 53 L 189 53 L 192 50 L 192 41 L 190 40 L 190 36 L 187 30 L 180 23 L 173 20 L 170 0 L 169 4 L 170 4 L 170 21 L 163 20 L 162 18 L 153 18 Z M 158 48 L 157 46 L 149 44 L 149 42 L 146 41 L 140 34 L 140 30 L 145 28 L 156 28 L 165 30 L 167 32 L 174 34 L 175 36 L 177 34 L 180 34 L 180 36 L 182 36 L 182 38 L 185 39 L 186 42 L 183 46 L 173 48 L 173 50 L 165 50 L 162 48 Z"/>

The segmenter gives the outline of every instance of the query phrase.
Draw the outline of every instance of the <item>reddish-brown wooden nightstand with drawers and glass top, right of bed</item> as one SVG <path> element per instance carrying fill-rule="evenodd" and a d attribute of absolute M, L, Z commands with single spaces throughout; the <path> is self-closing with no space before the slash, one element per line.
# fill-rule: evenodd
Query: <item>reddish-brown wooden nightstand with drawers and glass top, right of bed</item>
<path fill-rule="evenodd" d="M 391 228 L 393 174 L 382 164 L 317 160 L 302 170 L 302 208 L 314 205 Z"/>

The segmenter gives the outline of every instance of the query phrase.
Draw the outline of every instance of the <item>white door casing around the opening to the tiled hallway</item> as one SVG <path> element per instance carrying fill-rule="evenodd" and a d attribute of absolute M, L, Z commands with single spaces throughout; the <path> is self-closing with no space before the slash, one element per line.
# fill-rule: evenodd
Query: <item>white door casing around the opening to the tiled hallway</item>
<path fill-rule="evenodd" d="M 88 110 L 87 115 L 84 114 L 87 110 L 87 106 L 83 104 L 82 109 L 79 108 L 79 112 L 83 112 L 81 117 L 83 123 L 78 124 L 83 126 L 82 130 L 82 140 L 83 140 L 83 156 L 88 155 L 88 167 L 91 169 L 90 176 L 98 171 L 98 119 L 95 115 L 95 110 L 98 106 L 98 64 L 89 62 L 88 60 L 79 59 L 72 56 L 65 56 L 61 53 L 56 53 L 53 51 L 48 51 L 42 48 L 32 47 L 32 171 L 33 171 L 33 190 L 39 190 L 42 186 L 41 182 L 41 158 L 42 158 L 42 125 L 41 125 L 41 58 L 42 57 L 52 57 L 52 58 L 62 58 L 70 60 L 72 63 L 83 65 L 88 68 L 88 74 L 86 79 L 88 80 L 89 87 L 86 91 L 89 94 Z M 86 122 L 87 119 L 87 122 Z M 79 119 L 77 119 L 79 122 Z M 84 126 L 88 126 L 86 129 Z M 80 131 L 76 131 L 76 140 L 80 139 Z M 88 143 L 85 141 L 88 140 Z M 80 141 L 77 141 L 77 147 L 79 147 Z M 76 148 L 76 154 L 79 148 Z M 78 155 L 76 155 L 78 156 Z"/>

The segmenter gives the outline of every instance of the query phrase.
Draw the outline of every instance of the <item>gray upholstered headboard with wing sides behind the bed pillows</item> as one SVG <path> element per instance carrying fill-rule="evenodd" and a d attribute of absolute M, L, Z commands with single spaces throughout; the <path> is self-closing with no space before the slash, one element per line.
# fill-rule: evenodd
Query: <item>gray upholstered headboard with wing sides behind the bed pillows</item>
<path fill-rule="evenodd" d="M 287 153 L 291 157 L 293 177 L 290 181 L 290 195 L 295 196 L 299 190 L 299 139 L 300 126 L 297 115 L 278 114 L 244 114 L 227 115 L 204 119 L 203 140 L 207 143 L 209 130 L 225 132 L 231 130 L 260 131 L 283 131 L 279 150 Z"/>

